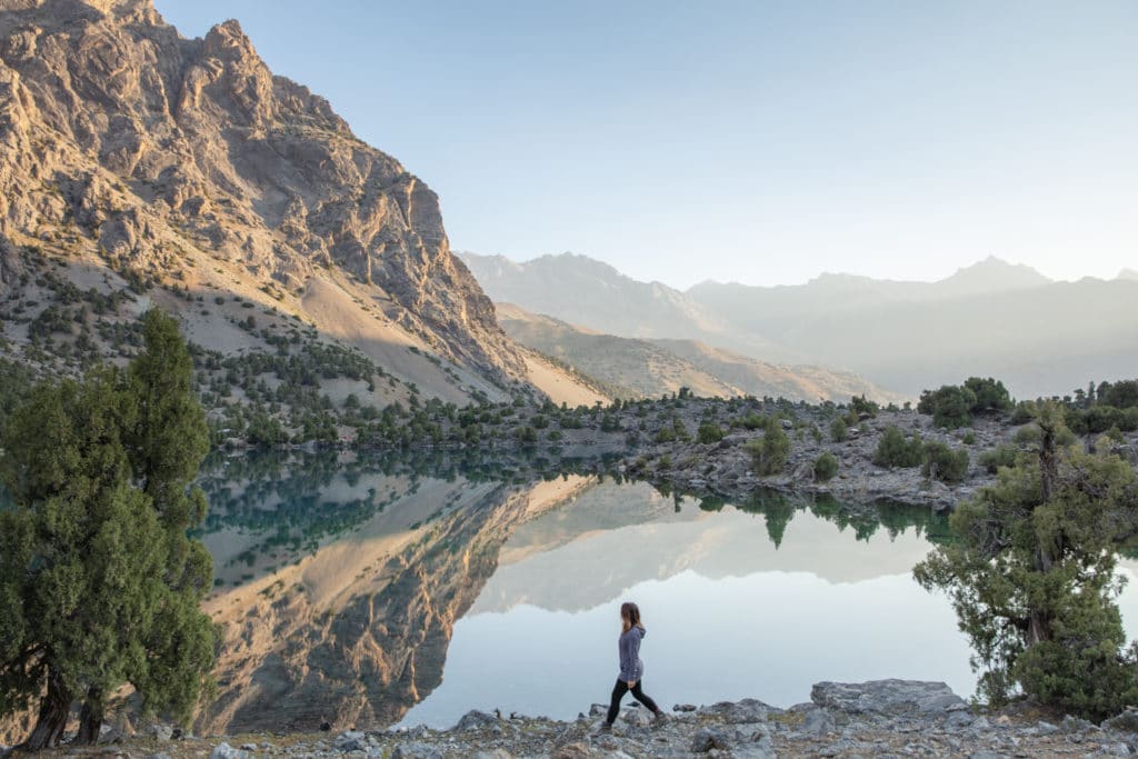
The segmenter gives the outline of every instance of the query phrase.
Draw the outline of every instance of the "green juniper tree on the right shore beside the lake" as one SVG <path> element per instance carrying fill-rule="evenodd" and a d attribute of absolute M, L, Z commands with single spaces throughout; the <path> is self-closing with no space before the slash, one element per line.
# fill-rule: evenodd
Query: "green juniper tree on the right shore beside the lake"
<path fill-rule="evenodd" d="M 1119 544 L 1138 526 L 1138 477 L 1115 455 L 1056 444 L 1062 409 L 1037 411 L 1036 453 L 1000 468 L 997 484 L 962 503 L 955 539 L 916 566 L 948 593 L 970 637 L 980 692 L 1020 691 L 1100 718 L 1138 700 L 1138 663 L 1114 599 Z"/>

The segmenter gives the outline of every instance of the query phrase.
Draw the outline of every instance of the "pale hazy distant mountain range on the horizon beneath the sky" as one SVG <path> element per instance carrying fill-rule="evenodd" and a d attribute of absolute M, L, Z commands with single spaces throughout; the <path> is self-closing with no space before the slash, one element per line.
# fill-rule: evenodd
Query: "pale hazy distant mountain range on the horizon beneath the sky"
<path fill-rule="evenodd" d="M 990 257 L 937 282 L 823 274 L 681 291 L 572 254 L 526 263 L 459 255 L 500 303 L 615 336 L 855 372 L 907 396 L 972 374 L 1000 377 L 1021 397 L 1138 374 L 1133 272 L 1059 282 Z"/>

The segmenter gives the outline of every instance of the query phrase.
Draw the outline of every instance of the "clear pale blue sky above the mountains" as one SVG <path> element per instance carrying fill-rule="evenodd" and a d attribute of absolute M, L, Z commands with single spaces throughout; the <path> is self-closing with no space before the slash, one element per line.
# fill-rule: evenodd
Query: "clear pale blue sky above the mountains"
<path fill-rule="evenodd" d="M 452 246 L 638 279 L 1138 269 L 1138 2 L 156 0 L 236 17 Z"/>

